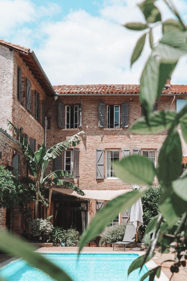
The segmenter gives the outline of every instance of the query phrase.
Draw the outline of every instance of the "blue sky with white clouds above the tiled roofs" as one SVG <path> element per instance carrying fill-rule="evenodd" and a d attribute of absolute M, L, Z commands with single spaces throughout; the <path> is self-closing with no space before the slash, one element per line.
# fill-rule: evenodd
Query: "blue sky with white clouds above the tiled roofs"
<path fill-rule="evenodd" d="M 137 0 L 0 0 L 0 38 L 34 50 L 53 85 L 137 84 L 150 53 L 148 40 L 141 58 L 130 69 L 133 47 L 142 32 L 122 27 L 144 21 Z M 175 0 L 187 22 L 187 0 Z M 156 1 L 163 20 L 171 14 Z M 161 36 L 154 31 L 154 41 Z M 186 58 L 172 76 L 187 84 Z"/>

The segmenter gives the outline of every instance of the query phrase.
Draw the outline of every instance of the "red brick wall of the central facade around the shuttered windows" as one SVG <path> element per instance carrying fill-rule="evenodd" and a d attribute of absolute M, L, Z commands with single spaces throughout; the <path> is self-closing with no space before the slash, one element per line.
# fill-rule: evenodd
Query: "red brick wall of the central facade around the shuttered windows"
<path fill-rule="evenodd" d="M 65 104 L 78 104 L 82 101 L 82 128 L 80 129 L 61 129 L 57 123 L 57 102 L 62 101 Z M 51 118 L 51 129 L 47 130 L 47 147 L 51 147 L 60 141 L 66 140 L 73 136 L 78 131 L 84 130 L 85 136 L 79 145 L 79 180 L 72 180 L 81 189 L 93 190 L 119 190 L 130 189 L 131 185 L 126 185 L 119 179 L 104 179 L 96 180 L 96 149 L 122 149 L 130 148 L 130 154 L 135 147 L 141 149 L 159 149 L 166 137 L 166 131 L 157 135 L 145 136 L 135 135 L 129 132 L 129 128 L 108 129 L 98 128 L 98 102 L 121 104 L 122 102 L 129 103 L 129 128 L 133 122 L 141 117 L 141 105 L 138 97 L 59 97 L 56 103 L 48 112 Z M 48 98 L 50 104 L 52 99 Z M 49 106 L 49 105 L 48 105 Z M 158 104 L 157 109 L 169 109 L 170 98 L 163 97 Z M 64 169 L 64 155 L 63 166 Z M 53 162 L 50 161 L 48 172 L 53 170 Z M 105 169 L 106 170 L 106 169 Z M 105 172 L 106 173 L 106 172 Z M 155 184 L 157 182 L 155 181 Z M 91 200 L 91 205 L 93 205 Z M 90 214 L 90 219 L 95 213 L 95 206 L 90 208 L 93 214 Z"/>

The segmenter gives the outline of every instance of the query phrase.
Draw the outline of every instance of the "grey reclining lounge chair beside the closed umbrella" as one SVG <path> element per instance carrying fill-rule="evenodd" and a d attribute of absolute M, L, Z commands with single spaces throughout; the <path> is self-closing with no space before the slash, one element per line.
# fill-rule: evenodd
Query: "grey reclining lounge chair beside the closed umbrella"
<path fill-rule="evenodd" d="M 123 240 L 113 243 L 113 250 L 114 250 L 114 245 L 124 245 L 124 251 L 125 251 L 125 248 L 129 244 L 133 244 L 133 246 L 134 245 L 136 246 L 135 240 L 136 240 L 136 229 L 134 228 L 133 225 L 127 225 Z M 119 249 L 119 248 L 115 247 L 115 249 Z"/>

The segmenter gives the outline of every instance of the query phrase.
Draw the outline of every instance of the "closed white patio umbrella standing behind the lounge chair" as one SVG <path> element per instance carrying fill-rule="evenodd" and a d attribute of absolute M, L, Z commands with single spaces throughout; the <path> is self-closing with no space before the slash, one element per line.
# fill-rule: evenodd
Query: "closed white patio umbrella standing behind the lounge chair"
<path fill-rule="evenodd" d="M 132 190 L 138 190 L 139 188 L 139 185 L 132 186 Z M 143 208 L 141 204 L 141 198 L 138 199 L 131 207 L 130 222 L 136 229 L 136 242 L 138 242 L 138 228 L 143 224 Z"/>

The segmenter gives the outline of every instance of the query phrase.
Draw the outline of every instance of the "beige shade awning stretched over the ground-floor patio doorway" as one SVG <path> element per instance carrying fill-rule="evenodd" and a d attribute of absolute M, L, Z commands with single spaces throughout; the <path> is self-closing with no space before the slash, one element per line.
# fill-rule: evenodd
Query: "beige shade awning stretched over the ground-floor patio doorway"
<path fill-rule="evenodd" d="M 124 193 L 127 193 L 129 191 L 132 191 L 131 189 L 122 189 L 122 190 L 89 190 L 89 189 L 83 189 L 82 191 L 85 193 L 84 196 L 81 196 L 77 194 L 76 191 L 73 191 L 68 188 L 53 188 L 54 191 L 66 194 L 66 195 L 72 195 L 80 198 L 87 198 L 87 199 L 95 199 L 95 200 L 103 200 L 103 201 L 110 201 L 114 198 L 116 198 L 119 195 L 122 195 Z"/>

